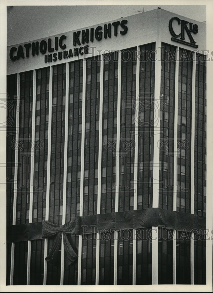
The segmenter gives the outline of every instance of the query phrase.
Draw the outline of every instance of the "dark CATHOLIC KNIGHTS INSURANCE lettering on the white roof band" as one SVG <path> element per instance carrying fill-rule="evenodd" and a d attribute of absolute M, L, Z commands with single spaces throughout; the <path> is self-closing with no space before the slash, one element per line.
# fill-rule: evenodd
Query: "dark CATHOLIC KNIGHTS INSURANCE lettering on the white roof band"
<path fill-rule="evenodd" d="M 85 43 L 93 42 L 94 39 L 97 41 L 102 40 L 103 38 L 111 38 L 112 33 L 117 37 L 118 33 L 120 35 L 125 35 L 128 31 L 127 20 L 123 19 L 120 21 L 115 21 L 113 23 L 104 24 L 104 27 L 97 26 L 96 28 L 90 28 L 86 30 L 79 30 L 73 32 L 73 46 L 74 48 L 65 50 L 66 44 L 66 35 L 61 35 L 61 37 L 55 37 L 54 39 L 49 38 L 48 41 L 41 40 L 40 42 L 32 42 L 25 45 L 19 45 L 17 47 L 12 47 L 10 49 L 10 59 L 16 61 L 20 58 L 29 57 L 30 55 L 38 55 L 39 52 L 44 55 L 44 62 L 52 62 L 57 59 L 61 60 L 70 58 L 73 56 L 79 56 L 89 53 L 89 46 L 84 45 Z M 77 47 L 76 47 L 77 46 Z M 63 50 L 60 52 L 54 52 L 58 50 Z M 48 54 L 47 54 L 48 52 Z M 54 53 L 53 53 L 54 52 Z"/>

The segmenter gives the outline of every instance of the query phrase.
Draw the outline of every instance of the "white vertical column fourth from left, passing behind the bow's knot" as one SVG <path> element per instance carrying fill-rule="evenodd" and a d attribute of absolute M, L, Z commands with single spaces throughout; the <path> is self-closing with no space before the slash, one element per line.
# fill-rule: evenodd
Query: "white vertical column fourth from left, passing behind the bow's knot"
<path fill-rule="evenodd" d="M 66 63 L 66 93 L 65 93 L 65 129 L 64 129 L 64 162 L 63 162 L 63 209 L 62 225 L 66 222 L 66 183 L 67 183 L 67 144 L 68 144 L 68 111 L 69 111 L 69 63 Z M 61 238 L 61 280 L 63 285 L 64 275 L 64 244 Z"/>

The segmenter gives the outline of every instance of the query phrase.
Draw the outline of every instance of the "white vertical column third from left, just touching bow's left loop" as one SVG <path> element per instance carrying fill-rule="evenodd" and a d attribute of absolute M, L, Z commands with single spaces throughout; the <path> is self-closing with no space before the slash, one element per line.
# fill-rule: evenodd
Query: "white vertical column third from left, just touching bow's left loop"
<path fill-rule="evenodd" d="M 46 215 L 45 220 L 49 220 L 49 185 L 50 185 L 50 163 L 51 163 L 51 126 L 52 126 L 52 80 L 53 67 L 49 67 L 49 117 L 48 117 L 48 145 L 47 145 L 47 192 L 46 192 Z M 47 238 L 44 239 L 44 285 L 47 284 Z"/>

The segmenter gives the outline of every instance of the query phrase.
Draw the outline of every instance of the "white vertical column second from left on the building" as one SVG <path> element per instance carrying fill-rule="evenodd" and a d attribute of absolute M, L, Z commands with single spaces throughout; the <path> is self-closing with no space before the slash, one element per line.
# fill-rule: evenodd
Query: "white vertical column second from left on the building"
<path fill-rule="evenodd" d="M 29 223 L 32 223 L 34 155 L 35 155 L 35 107 L 36 107 L 36 70 L 33 70 Z M 28 240 L 27 285 L 30 285 L 30 258 L 31 258 L 31 241 Z"/>

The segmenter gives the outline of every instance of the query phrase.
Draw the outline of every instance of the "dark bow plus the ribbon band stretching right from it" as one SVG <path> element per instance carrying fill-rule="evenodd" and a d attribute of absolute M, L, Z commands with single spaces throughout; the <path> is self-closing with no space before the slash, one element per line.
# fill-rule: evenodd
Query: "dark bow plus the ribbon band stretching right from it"
<path fill-rule="evenodd" d="M 57 225 L 47 221 L 42 222 L 42 238 L 56 236 L 53 247 L 46 257 L 46 260 L 50 263 L 56 262 L 61 243 L 60 240 L 63 234 L 63 243 L 68 264 L 71 264 L 78 255 L 69 243 L 67 234 L 83 235 L 87 233 L 96 233 L 97 231 L 101 232 L 104 229 L 143 229 L 152 226 L 164 226 L 167 229 L 186 230 L 190 232 L 192 229 L 205 229 L 206 227 L 205 217 L 159 208 L 96 214 L 83 217 L 77 216 L 64 225 Z M 84 229 L 85 227 L 87 229 Z M 92 229 L 92 227 L 94 227 L 94 229 Z M 197 231 L 197 233 L 202 234 L 202 231 Z"/>

